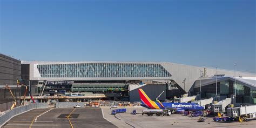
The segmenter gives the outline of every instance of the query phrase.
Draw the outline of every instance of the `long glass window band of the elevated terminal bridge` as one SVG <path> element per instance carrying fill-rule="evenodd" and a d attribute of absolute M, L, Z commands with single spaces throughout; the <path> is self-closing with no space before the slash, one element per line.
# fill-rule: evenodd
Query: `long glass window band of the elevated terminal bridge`
<path fill-rule="evenodd" d="M 77 63 L 37 65 L 41 77 L 171 77 L 160 64 Z"/>

